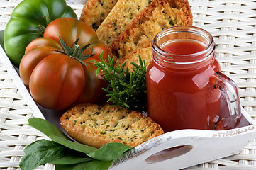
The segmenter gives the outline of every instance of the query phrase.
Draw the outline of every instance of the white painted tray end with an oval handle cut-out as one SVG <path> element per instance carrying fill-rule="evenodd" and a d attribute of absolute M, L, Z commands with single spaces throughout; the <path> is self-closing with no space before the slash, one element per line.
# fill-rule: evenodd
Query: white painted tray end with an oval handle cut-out
<path fill-rule="evenodd" d="M 251 125 L 221 131 L 177 130 L 155 137 L 116 160 L 111 170 L 183 169 L 238 154 L 256 135 L 255 122 L 245 110 L 243 115 Z"/>

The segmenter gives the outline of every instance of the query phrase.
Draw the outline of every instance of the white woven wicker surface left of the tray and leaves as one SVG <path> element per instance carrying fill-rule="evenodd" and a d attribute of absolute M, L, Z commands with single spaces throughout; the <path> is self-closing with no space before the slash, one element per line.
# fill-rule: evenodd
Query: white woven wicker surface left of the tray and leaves
<path fill-rule="evenodd" d="M 0 169 L 19 169 L 23 148 L 45 138 L 41 132 L 28 126 L 28 118 L 31 117 L 32 111 L 0 62 Z M 52 164 L 46 164 L 40 169 L 52 167 Z"/>

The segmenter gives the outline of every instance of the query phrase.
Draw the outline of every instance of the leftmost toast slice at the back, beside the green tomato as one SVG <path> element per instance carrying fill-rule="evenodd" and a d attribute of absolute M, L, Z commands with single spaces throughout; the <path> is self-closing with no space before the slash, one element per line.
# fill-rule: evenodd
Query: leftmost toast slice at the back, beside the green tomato
<path fill-rule="evenodd" d="M 118 0 L 88 0 L 82 9 L 80 20 L 94 30 L 101 25 Z"/>

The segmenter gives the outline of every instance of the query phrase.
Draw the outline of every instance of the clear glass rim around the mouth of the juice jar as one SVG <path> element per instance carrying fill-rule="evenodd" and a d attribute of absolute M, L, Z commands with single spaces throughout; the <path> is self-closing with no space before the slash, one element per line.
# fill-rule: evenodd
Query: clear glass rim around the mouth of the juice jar
<path fill-rule="evenodd" d="M 162 48 L 160 47 L 160 45 L 158 45 L 157 41 L 160 40 L 160 38 L 162 38 L 163 36 L 165 36 L 168 33 L 179 33 L 179 32 L 191 32 L 194 33 L 196 35 L 199 36 L 204 36 L 205 38 L 208 38 L 208 44 L 206 45 L 206 47 L 204 48 L 204 50 L 201 50 L 199 52 L 194 52 L 191 54 L 174 54 L 174 53 L 170 53 L 170 52 L 166 52 L 165 50 L 162 50 Z M 166 28 L 165 30 L 160 31 L 160 33 L 157 33 L 157 35 L 155 36 L 155 38 L 152 41 L 152 48 L 153 51 L 157 52 L 158 55 L 160 55 L 161 57 L 163 57 L 163 61 L 170 63 L 170 64 L 193 64 L 193 63 L 197 63 L 197 62 L 202 62 L 204 60 L 207 60 L 209 57 L 211 57 L 211 52 L 213 52 L 215 50 L 215 43 L 213 40 L 213 37 L 210 33 L 208 33 L 206 30 L 196 27 L 196 26 L 173 26 L 170 28 Z M 191 59 L 194 58 L 195 56 L 200 56 L 200 55 L 204 55 L 204 54 L 208 54 L 208 57 L 204 57 L 201 58 L 199 60 L 194 60 L 194 61 L 190 61 L 190 62 L 174 62 L 174 56 L 175 57 L 184 57 L 186 59 Z M 172 57 L 173 56 L 173 57 Z"/>

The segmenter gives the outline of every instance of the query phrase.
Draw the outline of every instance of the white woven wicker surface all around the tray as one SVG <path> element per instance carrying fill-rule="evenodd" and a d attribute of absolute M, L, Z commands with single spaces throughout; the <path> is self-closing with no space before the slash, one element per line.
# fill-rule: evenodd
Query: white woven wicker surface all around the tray
<path fill-rule="evenodd" d="M 80 16 L 83 0 L 67 1 Z M 0 30 L 4 30 L 13 8 L 21 0 L 0 0 Z M 256 117 L 256 1 L 190 0 L 194 26 L 208 30 L 216 42 L 221 69 L 238 85 L 241 104 L 253 119 Z M 19 169 L 23 147 L 43 138 L 28 126 L 33 112 L 28 108 L 13 79 L 0 62 L 0 170 Z M 207 152 L 207 151 L 206 151 Z M 53 169 L 46 164 L 38 169 Z M 256 139 L 240 154 L 218 159 L 188 169 L 256 169 Z"/>

